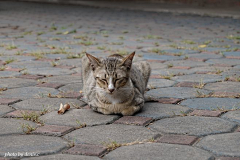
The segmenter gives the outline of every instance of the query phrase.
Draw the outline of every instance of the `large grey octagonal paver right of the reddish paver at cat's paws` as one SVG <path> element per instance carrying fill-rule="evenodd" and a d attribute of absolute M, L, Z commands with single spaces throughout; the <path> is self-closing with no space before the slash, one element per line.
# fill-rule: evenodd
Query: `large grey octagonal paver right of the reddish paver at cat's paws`
<path fill-rule="evenodd" d="M 150 128 L 170 134 L 188 134 L 204 136 L 230 132 L 236 124 L 216 117 L 175 117 L 162 119 L 150 125 Z"/>

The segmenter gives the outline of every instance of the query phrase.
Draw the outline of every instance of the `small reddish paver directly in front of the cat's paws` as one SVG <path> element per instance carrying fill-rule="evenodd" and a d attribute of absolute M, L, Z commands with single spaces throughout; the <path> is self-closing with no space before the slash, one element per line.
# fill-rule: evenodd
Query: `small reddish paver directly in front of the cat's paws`
<path fill-rule="evenodd" d="M 116 120 L 115 124 L 134 124 L 140 126 L 146 126 L 152 121 L 152 118 L 148 117 L 138 117 L 138 116 L 123 116 L 122 118 Z"/>

